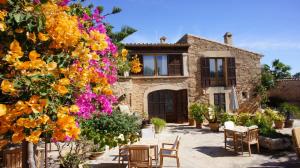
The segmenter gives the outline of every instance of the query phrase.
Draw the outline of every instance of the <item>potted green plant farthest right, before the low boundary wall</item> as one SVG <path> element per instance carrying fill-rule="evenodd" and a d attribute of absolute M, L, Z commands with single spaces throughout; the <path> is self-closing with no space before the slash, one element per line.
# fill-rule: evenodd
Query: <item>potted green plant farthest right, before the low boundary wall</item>
<path fill-rule="evenodd" d="M 292 128 L 294 124 L 294 120 L 292 119 L 294 113 L 298 113 L 300 111 L 299 107 L 289 104 L 289 103 L 282 103 L 280 105 L 280 110 L 285 114 L 285 127 Z"/>

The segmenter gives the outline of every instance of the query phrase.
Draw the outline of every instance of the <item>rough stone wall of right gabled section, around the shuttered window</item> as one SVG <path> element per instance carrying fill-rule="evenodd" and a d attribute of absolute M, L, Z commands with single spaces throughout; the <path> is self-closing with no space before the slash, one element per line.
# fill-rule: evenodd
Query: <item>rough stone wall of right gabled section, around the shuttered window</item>
<path fill-rule="evenodd" d="M 209 102 L 212 104 L 211 96 L 216 89 L 221 93 L 230 94 L 231 88 L 203 89 L 201 88 L 201 57 L 235 57 L 236 60 L 236 79 L 237 79 L 237 95 L 239 104 L 253 97 L 256 85 L 260 82 L 260 58 L 261 56 L 240 50 L 238 48 L 219 44 L 214 41 L 198 38 L 193 35 L 185 35 L 179 42 L 187 42 L 191 44 L 188 51 L 189 75 L 188 79 L 190 100 Z M 210 90 L 213 90 L 210 92 Z M 245 96 L 242 96 L 244 92 Z M 226 95 L 229 97 L 229 95 Z M 226 102 L 230 107 L 230 100 Z M 230 111 L 230 109 L 228 109 Z"/>

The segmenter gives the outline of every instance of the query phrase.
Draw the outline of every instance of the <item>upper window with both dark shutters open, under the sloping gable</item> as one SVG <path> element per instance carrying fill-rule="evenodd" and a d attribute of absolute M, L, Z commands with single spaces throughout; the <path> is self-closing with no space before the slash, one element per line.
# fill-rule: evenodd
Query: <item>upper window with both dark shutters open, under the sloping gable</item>
<path fill-rule="evenodd" d="M 236 85 L 235 58 L 201 58 L 201 85 Z"/>

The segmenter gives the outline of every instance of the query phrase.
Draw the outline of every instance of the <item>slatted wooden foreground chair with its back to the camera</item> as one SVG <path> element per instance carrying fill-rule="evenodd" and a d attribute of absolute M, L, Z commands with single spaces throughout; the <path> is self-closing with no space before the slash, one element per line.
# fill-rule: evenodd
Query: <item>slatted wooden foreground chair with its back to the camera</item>
<path fill-rule="evenodd" d="M 130 145 L 128 147 L 128 168 L 147 167 L 152 168 L 149 145 Z"/>

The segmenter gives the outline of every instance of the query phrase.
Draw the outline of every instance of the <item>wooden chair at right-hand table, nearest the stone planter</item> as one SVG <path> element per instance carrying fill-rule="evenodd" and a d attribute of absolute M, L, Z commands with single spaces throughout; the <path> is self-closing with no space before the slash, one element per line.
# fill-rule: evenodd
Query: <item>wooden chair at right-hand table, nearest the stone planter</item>
<path fill-rule="evenodd" d="M 242 141 L 243 144 L 247 144 L 249 156 L 251 156 L 251 145 L 256 144 L 257 152 L 259 153 L 259 129 L 257 126 L 248 127 L 248 131 L 245 134 L 237 135 L 237 141 Z M 242 147 L 242 154 L 243 154 L 243 147 Z"/>

